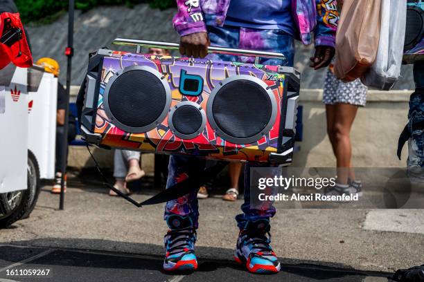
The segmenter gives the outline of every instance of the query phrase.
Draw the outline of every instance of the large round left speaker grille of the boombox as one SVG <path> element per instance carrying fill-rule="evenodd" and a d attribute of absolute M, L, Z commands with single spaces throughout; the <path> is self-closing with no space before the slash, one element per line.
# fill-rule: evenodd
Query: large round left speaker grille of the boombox
<path fill-rule="evenodd" d="M 164 113 L 167 93 L 156 75 L 134 69 L 114 80 L 107 100 L 109 110 L 118 122 L 141 128 L 154 123 Z"/>

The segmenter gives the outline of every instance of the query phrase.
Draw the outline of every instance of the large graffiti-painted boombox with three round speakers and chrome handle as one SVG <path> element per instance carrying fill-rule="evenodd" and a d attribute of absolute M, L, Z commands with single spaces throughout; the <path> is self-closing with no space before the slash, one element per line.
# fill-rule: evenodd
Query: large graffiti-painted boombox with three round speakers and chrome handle
<path fill-rule="evenodd" d="M 178 48 L 134 39 L 114 44 Z M 209 52 L 283 58 L 229 48 Z M 299 78 L 285 66 L 100 49 L 78 98 L 84 97 L 82 135 L 100 147 L 290 164 Z"/>

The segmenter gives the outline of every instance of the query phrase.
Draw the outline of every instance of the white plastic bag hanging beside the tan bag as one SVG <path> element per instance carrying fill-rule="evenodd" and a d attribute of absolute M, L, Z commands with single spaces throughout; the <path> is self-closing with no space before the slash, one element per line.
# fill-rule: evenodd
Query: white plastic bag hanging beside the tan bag
<path fill-rule="evenodd" d="M 376 62 L 361 77 L 366 86 L 390 90 L 398 81 L 405 41 L 407 0 L 382 0 Z"/>

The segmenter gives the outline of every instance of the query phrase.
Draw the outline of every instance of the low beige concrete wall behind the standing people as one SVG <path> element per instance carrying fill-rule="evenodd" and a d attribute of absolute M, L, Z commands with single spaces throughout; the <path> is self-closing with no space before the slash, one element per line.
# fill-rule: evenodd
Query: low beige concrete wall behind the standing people
<path fill-rule="evenodd" d="M 78 86 L 71 88 L 71 101 L 76 100 Z M 411 91 L 369 91 L 367 104 L 360 108 L 353 124 L 354 167 L 405 167 L 407 147 L 403 160 L 396 157 L 398 137 L 407 122 L 408 101 Z M 301 151 L 294 156 L 293 167 L 334 167 L 335 158 L 326 135 L 325 106 L 321 103 L 322 90 L 304 89 L 300 104 L 303 105 L 303 142 Z M 113 167 L 113 153 L 94 149 L 101 167 Z M 153 173 L 154 155 L 142 155 L 143 169 Z M 93 167 L 85 147 L 71 147 L 69 166 Z"/>

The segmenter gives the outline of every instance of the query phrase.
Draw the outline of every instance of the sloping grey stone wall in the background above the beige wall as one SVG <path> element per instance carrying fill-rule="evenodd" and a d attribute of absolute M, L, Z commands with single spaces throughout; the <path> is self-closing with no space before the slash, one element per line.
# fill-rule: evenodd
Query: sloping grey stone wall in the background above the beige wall
<path fill-rule="evenodd" d="M 103 46 L 113 50 L 134 52 L 134 48 L 112 45 L 116 37 L 178 42 L 179 36 L 173 29 L 172 19 L 177 10 L 152 9 L 148 4 L 139 4 L 134 8 L 126 6 L 96 7 L 87 12 L 76 11 L 74 27 L 74 56 L 72 62 L 72 85 L 78 85 L 87 68 L 88 54 Z M 33 46 L 33 56 L 52 57 L 62 66 L 60 82 L 65 83 L 67 57 L 64 47 L 67 46 L 68 17 L 64 14 L 57 21 L 42 26 L 29 24 L 28 34 Z M 324 83 L 326 69 L 314 71 L 309 67 L 309 58 L 314 53 L 313 45 L 303 46 L 296 41 L 294 67 L 301 72 L 302 88 L 321 88 Z M 412 89 L 412 66 L 402 66 L 396 89 Z"/>

